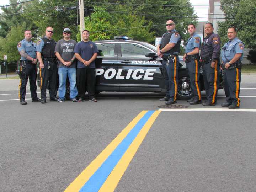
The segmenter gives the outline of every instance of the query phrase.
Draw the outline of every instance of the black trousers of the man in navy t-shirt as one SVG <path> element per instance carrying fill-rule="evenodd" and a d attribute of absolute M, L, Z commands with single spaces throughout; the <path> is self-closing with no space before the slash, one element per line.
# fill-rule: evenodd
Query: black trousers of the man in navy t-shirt
<path fill-rule="evenodd" d="M 95 68 L 77 68 L 76 69 L 76 82 L 78 86 L 78 99 L 84 100 L 85 87 L 87 82 L 87 92 L 89 99 L 95 96 Z"/>

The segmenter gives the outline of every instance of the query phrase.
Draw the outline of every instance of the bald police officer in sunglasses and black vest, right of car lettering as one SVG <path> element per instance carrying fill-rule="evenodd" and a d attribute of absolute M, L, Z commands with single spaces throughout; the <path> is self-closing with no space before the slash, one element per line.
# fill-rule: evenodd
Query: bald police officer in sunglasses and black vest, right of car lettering
<path fill-rule="evenodd" d="M 164 68 L 168 74 L 168 87 L 169 94 L 162 98 L 161 101 L 166 101 L 166 105 L 177 103 L 177 86 L 178 86 L 178 67 L 180 52 L 181 35 L 175 30 L 175 24 L 172 20 L 166 22 L 167 32 L 162 35 L 162 39 L 158 46 L 158 56 L 164 59 Z"/>

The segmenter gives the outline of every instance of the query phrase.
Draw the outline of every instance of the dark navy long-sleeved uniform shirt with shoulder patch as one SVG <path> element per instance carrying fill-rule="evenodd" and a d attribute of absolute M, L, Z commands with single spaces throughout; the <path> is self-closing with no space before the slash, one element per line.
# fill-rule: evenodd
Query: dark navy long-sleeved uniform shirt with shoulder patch
<path fill-rule="evenodd" d="M 201 58 L 219 59 L 220 57 L 220 37 L 212 33 L 204 38 L 201 47 Z"/>

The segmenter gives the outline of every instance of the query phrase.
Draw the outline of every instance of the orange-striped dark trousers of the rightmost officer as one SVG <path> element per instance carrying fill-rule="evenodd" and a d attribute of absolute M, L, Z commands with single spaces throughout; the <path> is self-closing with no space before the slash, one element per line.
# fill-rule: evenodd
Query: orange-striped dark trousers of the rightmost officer
<path fill-rule="evenodd" d="M 224 70 L 224 90 L 226 94 L 226 101 L 230 104 L 240 106 L 240 83 L 241 83 L 241 69 Z"/>

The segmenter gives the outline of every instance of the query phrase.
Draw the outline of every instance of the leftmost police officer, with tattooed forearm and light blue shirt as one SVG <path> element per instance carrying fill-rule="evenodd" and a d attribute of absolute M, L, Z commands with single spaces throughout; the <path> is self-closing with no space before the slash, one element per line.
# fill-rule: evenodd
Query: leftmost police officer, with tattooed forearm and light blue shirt
<path fill-rule="evenodd" d="M 18 51 L 21 55 L 20 60 L 20 66 L 21 66 L 21 72 L 20 72 L 20 85 L 19 85 L 19 98 L 20 98 L 20 104 L 26 105 L 27 102 L 25 101 L 25 95 L 26 95 L 26 85 L 29 78 L 30 81 L 30 94 L 32 98 L 32 102 L 41 101 L 37 97 L 36 93 L 36 43 L 31 41 L 31 31 L 25 30 L 24 31 L 25 39 L 20 41 L 18 43 Z"/>

